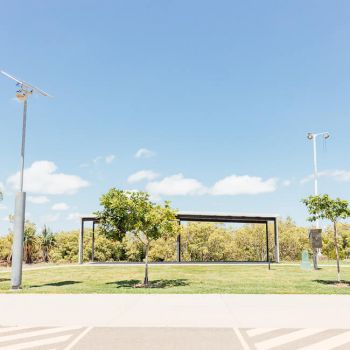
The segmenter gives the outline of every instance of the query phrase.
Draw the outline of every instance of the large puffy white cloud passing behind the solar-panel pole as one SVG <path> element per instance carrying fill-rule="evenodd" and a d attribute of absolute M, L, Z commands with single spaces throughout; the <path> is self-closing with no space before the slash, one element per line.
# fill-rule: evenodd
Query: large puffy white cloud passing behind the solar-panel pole
<path fill-rule="evenodd" d="M 89 183 L 77 175 L 57 173 L 55 163 L 42 160 L 32 163 L 24 171 L 25 190 L 38 194 L 74 194 Z M 7 182 L 15 189 L 19 187 L 19 172 Z"/>

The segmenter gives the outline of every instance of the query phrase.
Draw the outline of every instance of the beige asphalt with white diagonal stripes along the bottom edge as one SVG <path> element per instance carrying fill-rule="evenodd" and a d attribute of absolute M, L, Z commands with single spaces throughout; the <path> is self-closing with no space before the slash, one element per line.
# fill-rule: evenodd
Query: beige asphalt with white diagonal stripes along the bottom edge
<path fill-rule="evenodd" d="M 1 327 L 0 350 L 348 350 L 350 329 Z"/>

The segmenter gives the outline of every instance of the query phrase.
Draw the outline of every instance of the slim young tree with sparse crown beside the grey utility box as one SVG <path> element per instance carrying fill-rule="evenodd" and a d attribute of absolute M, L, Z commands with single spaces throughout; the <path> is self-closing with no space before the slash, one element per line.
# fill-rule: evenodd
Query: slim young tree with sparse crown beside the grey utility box
<path fill-rule="evenodd" d="M 350 217 L 349 203 L 348 201 L 340 198 L 332 199 L 328 196 L 328 194 L 320 196 L 309 196 L 308 198 L 303 199 L 303 203 L 306 205 L 309 211 L 309 221 L 326 219 L 331 221 L 333 224 L 334 248 L 337 260 L 337 280 L 340 282 L 337 223 L 340 219 L 346 219 Z"/>

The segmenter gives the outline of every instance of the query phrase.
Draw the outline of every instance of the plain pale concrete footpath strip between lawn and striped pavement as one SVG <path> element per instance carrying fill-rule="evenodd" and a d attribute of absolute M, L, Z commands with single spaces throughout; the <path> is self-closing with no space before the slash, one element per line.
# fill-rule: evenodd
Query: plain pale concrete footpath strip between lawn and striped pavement
<path fill-rule="evenodd" d="M 0 326 L 350 328 L 350 296 L 2 294 Z"/>

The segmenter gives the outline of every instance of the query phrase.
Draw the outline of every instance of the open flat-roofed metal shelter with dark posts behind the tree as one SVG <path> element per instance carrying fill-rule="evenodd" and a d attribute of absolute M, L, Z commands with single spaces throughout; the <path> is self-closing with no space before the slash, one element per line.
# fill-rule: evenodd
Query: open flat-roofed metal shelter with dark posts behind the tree
<path fill-rule="evenodd" d="M 216 222 L 216 223 L 240 223 L 240 224 L 264 224 L 266 234 L 266 262 L 270 263 L 269 254 L 269 223 L 273 223 L 274 235 L 274 262 L 280 262 L 279 241 L 278 241 L 278 215 L 255 215 L 255 214 L 227 214 L 227 213 L 194 213 L 180 212 L 177 215 L 179 224 L 182 222 Z M 92 222 L 92 247 L 91 247 L 91 262 L 94 262 L 95 252 L 95 226 L 99 219 L 96 216 L 81 217 L 80 235 L 79 235 L 79 264 L 83 263 L 84 249 L 84 230 L 85 223 Z M 181 263 L 181 235 L 177 236 L 176 240 L 176 262 Z"/>

